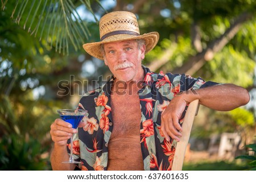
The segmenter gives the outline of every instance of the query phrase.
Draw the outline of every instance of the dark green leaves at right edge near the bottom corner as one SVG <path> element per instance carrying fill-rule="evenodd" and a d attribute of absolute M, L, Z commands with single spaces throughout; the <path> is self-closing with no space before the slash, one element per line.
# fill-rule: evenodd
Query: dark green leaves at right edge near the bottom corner
<path fill-rule="evenodd" d="M 237 156 L 236 159 L 245 159 L 248 162 L 248 165 L 250 166 L 249 170 L 256 171 L 256 143 L 248 144 L 245 146 L 246 148 L 251 148 L 251 150 L 247 151 L 247 155 L 240 155 Z M 249 151 L 253 152 L 254 155 L 249 155 Z"/>

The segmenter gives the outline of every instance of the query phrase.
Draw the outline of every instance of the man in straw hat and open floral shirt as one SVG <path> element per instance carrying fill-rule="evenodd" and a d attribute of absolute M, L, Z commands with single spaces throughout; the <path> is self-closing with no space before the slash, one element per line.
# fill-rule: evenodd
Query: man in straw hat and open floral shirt
<path fill-rule="evenodd" d="M 78 130 L 56 119 L 51 125 L 52 169 L 73 170 L 67 140 L 82 170 L 171 170 L 174 140 L 179 142 L 185 107 L 193 100 L 215 110 L 232 110 L 249 102 L 249 93 L 233 84 L 150 72 L 142 66 L 159 39 L 157 32 L 139 34 L 136 16 L 115 11 L 100 20 L 100 42 L 84 44 L 104 60 L 113 77 L 85 94 L 79 103 L 88 114 Z M 199 89 L 200 88 L 200 89 Z M 69 146 L 69 145 L 68 145 Z"/>

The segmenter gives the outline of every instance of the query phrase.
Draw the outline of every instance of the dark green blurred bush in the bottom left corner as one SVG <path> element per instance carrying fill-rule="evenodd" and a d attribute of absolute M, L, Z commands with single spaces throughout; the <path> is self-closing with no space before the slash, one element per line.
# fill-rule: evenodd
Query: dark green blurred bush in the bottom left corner
<path fill-rule="evenodd" d="M 46 151 L 35 138 L 9 135 L 0 139 L 0 170 L 48 170 Z"/>

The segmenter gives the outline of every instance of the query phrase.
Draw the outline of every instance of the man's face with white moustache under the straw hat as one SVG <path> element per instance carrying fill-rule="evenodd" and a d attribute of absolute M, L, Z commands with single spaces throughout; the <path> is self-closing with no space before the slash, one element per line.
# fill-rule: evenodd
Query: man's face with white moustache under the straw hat
<path fill-rule="evenodd" d="M 138 80 L 143 76 L 141 61 L 144 59 L 145 46 L 138 48 L 135 40 L 106 43 L 105 64 L 110 71 L 121 81 Z"/>

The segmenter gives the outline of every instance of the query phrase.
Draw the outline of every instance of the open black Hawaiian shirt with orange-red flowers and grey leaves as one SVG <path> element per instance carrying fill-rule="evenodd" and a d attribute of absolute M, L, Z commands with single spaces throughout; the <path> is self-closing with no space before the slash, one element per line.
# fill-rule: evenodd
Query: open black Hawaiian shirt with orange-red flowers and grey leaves
<path fill-rule="evenodd" d="M 143 67 L 143 66 L 142 66 Z M 161 131 L 161 113 L 179 92 L 205 88 L 216 82 L 188 75 L 154 73 L 144 69 L 144 81 L 139 90 L 141 104 L 141 151 L 144 170 L 171 170 L 175 140 L 167 142 Z M 114 123 L 110 105 L 110 90 L 114 77 L 100 88 L 86 93 L 79 102 L 79 109 L 88 113 L 83 118 L 84 127 L 78 128 L 73 138 L 73 155 L 81 161 L 81 170 L 106 170 L 108 166 L 108 142 Z M 184 117 L 185 111 L 183 113 Z M 182 122 L 183 117 L 180 118 Z M 67 144 L 70 152 L 70 141 Z"/>

